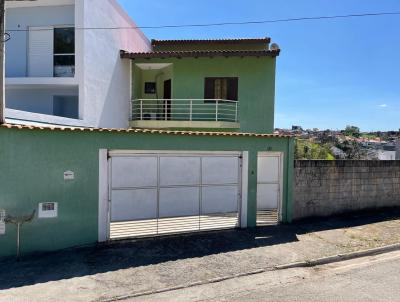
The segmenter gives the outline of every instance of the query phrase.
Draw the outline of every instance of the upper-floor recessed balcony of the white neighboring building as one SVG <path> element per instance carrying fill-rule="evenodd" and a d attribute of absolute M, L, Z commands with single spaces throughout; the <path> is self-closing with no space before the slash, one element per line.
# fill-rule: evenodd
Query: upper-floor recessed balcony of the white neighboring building
<path fill-rule="evenodd" d="M 73 0 L 8 2 L 6 86 L 77 85 Z"/>

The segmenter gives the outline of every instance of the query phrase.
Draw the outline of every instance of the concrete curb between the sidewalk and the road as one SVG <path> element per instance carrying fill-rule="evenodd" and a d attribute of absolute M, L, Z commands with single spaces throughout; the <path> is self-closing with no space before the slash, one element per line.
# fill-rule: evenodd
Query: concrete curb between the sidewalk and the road
<path fill-rule="evenodd" d="M 189 283 L 189 284 L 185 284 L 185 285 L 178 285 L 178 286 L 162 288 L 162 289 L 158 289 L 158 290 L 138 292 L 138 293 L 134 293 L 134 294 L 128 294 L 128 295 L 124 295 L 124 296 L 102 299 L 102 300 L 98 300 L 98 301 L 100 301 L 100 302 L 122 301 L 122 300 L 137 298 L 137 297 L 141 297 L 141 296 L 149 296 L 149 295 L 165 293 L 165 292 L 169 292 L 169 291 L 173 291 L 173 290 L 190 288 L 190 287 L 199 286 L 199 285 L 218 283 L 218 282 L 222 282 L 225 280 L 235 279 L 235 278 L 239 278 L 239 277 L 246 277 L 246 276 L 251 276 L 251 275 L 257 275 L 257 274 L 262 274 L 262 273 L 270 272 L 270 271 L 285 270 L 285 269 L 300 268 L 300 267 L 313 267 L 313 266 L 329 264 L 329 263 L 334 263 L 334 262 L 340 262 L 340 261 L 350 260 L 350 259 L 355 259 L 355 258 L 360 258 L 360 257 L 384 254 L 384 253 L 393 252 L 396 250 L 400 250 L 400 243 L 382 246 L 382 247 L 378 247 L 378 248 L 373 248 L 373 249 L 369 249 L 369 250 L 347 253 L 347 254 L 339 254 L 339 255 L 335 255 L 335 256 L 323 257 L 323 258 L 312 259 L 312 260 L 307 260 L 307 261 L 299 261 L 299 262 L 293 262 L 293 263 L 288 263 L 288 264 L 283 264 L 283 265 L 277 265 L 277 266 L 258 269 L 255 271 L 250 271 L 250 272 L 246 272 L 246 273 L 242 273 L 242 274 L 218 277 L 218 278 L 214 278 L 214 279 L 193 282 L 193 283 Z"/>

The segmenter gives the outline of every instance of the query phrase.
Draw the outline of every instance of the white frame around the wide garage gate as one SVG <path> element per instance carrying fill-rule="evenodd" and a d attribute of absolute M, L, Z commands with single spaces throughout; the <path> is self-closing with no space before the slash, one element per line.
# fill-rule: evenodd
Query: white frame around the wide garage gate
<path fill-rule="evenodd" d="M 124 157 L 132 155 L 154 155 L 154 154 L 171 154 L 171 155 L 211 155 L 211 156 L 229 156 L 236 155 L 241 159 L 241 166 L 239 169 L 240 184 L 239 191 L 240 195 L 238 198 L 238 220 L 239 228 L 247 227 L 247 195 L 248 195 L 248 151 L 182 151 L 182 150 L 99 150 L 99 216 L 98 216 L 98 241 L 106 242 L 110 240 L 110 202 L 111 202 L 111 190 L 110 190 L 110 173 L 111 173 L 111 161 L 109 160 L 112 156 Z"/>

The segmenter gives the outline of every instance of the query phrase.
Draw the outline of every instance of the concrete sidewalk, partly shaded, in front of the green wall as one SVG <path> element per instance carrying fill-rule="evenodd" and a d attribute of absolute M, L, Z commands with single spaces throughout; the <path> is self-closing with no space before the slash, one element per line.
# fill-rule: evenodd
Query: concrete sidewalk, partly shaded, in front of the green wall
<path fill-rule="evenodd" d="M 0 261 L 0 301 L 98 301 L 400 243 L 400 210 Z"/>

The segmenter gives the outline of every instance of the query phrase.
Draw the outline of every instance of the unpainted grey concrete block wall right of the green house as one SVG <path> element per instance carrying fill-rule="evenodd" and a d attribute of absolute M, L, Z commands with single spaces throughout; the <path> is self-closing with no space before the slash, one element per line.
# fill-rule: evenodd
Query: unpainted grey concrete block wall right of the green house
<path fill-rule="evenodd" d="M 400 161 L 295 161 L 293 219 L 400 206 Z"/>

